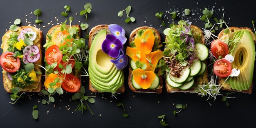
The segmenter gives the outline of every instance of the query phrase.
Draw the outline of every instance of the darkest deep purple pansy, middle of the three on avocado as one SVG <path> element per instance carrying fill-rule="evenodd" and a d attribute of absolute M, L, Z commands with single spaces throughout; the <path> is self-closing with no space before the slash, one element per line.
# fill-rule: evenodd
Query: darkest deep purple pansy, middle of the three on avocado
<path fill-rule="evenodd" d="M 103 52 L 111 56 L 112 58 L 117 58 L 120 49 L 123 47 L 123 44 L 116 36 L 108 34 L 106 39 L 103 41 L 101 45 L 101 49 Z"/>

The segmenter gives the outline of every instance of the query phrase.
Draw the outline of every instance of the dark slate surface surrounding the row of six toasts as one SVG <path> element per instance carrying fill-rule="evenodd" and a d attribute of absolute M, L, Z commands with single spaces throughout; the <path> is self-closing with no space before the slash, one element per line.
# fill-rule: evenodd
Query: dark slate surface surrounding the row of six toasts
<path fill-rule="evenodd" d="M 166 27 L 160 27 L 161 21 L 155 17 L 155 13 L 159 11 L 163 11 L 164 15 L 166 15 L 163 19 L 167 25 L 171 16 L 166 11 L 179 10 L 181 14 L 175 20 L 177 23 L 182 17 L 182 11 L 188 8 L 191 11 L 193 10 L 193 12 L 191 12 L 190 16 L 185 16 L 184 18 L 191 17 L 189 20 L 192 21 L 192 24 L 202 28 L 204 27 L 204 22 L 199 20 L 202 10 L 204 7 L 212 9 L 213 6 L 213 16 L 218 19 L 222 18 L 222 9 L 224 9 L 225 21 L 229 22 L 229 27 L 253 28 L 251 20 L 256 20 L 255 3 L 249 2 L 249 0 L 0 0 L 0 35 L 4 35 L 5 29 L 8 29 L 11 25 L 9 22 L 13 23 L 16 18 L 22 20 L 20 26 L 28 25 L 25 22 L 26 18 L 29 22 L 34 23 L 36 16 L 30 14 L 30 12 L 33 12 L 35 9 L 41 9 L 42 16 L 39 16 L 39 19 L 43 20 L 43 23 L 40 26 L 35 25 L 43 31 L 44 44 L 47 31 L 52 27 L 52 25 L 47 25 L 47 23 L 52 21 L 54 25 L 57 25 L 57 22 L 65 21 L 66 17 L 61 16 L 61 12 L 65 11 L 64 5 L 71 7 L 69 16 L 74 17 L 73 24 L 86 23 L 85 16 L 79 16 L 79 12 L 87 2 L 92 3 L 92 12 L 88 14 L 89 30 L 96 25 L 115 23 L 124 27 L 127 38 L 133 29 L 152 25 L 152 27 L 160 31 L 163 40 L 163 30 Z M 132 7 L 130 17 L 135 17 L 136 22 L 127 24 L 124 22 L 126 15 L 124 14 L 122 18 L 119 18 L 117 13 L 128 5 Z M 78 13 L 78 15 L 75 15 L 75 13 Z M 192 13 L 195 13 L 195 15 L 192 16 Z M 28 16 L 25 17 L 25 15 Z M 57 17 L 58 21 L 54 17 Z M 80 23 L 78 22 L 79 20 L 81 21 Z M 212 22 L 214 22 L 213 18 Z M 42 28 L 44 25 L 46 27 Z M 223 27 L 225 26 L 223 25 Z M 85 37 L 86 32 L 83 31 L 82 34 Z M 0 52 L 2 52 L 2 49 Z M 170 128 L 237 128 L 254 126 L 254 115 L 256 115 L 255 88 L 252 94 L 240 92 L 231 94 L 230 96 L 236 97 L 236 99 L 228 99 L 230 106 L 227 107 L 225 102 L 221 101 L 221 97 L 218 97 L 215 102 L 213 102 L 213 99 L 206 101 L 207 97 L 201 98 L 196 94 L 168 94 L 165 87 L 162 94 L 134 93 L 128 88 L 128 68 L 125 69 L 125 72 L 126 91 L 118 94 L 117 99 L 110 97 L 108 93 L 96 94 L 96 102 L 94 104 L 89 103 L 94 116 L 89 111 L 84 112 L 83 115 L 81 112 L 75 111 L 76 102 L 70 101 L 72 94 L 69 93 L 61 96 L 55 94 L 55 102 L 48 105 L 43 105 L 41 102 L 38 103 L 38 101 L 47 97 L 40 97 L 38 93 L 25 93 L 25 97 L 20 99 L 15 105 L 10 104 L 10 94 L 4 90 L 2 83 L 0 83 L 0 127 L 161 128 L 162 126 L 159 124 L 160 119 L 157 116 L 163 114 L 166 115 L 164 120 L 169 124 L 168 127 Z M 2 74 L 0 74 L 0 78 L 2 78 Z M 84 81 L 83 85 L 86 88 L 86 94 L 91 95 L 91 92 L 88 90 L 88 77 L 82 77 L 82 79 Z M 225 94 L 225 91 L 222 91 L 222 94 Z M 128 118 L 122 117 L 123 109 L 116 106 L 119 102 L 124 103 L 126 111 L 130 115 Z M 212 103 L 212 106 L 209 105 L 209 102 Z M 176 117 L 173 117 L 172 112 L 176 110 L 173 103 L 187 104 L 188 108 L 178 113 Z M 38 105 L 39 110 L 37 120 L 32 117 L 32 107 L 34 104 Z M 70 110 L 67 110 L 65 106 L 70 108 Z M 49 113 L 47 114 L 48 110 Z M 72 112 L 74 113 L 72 114 Z"/>

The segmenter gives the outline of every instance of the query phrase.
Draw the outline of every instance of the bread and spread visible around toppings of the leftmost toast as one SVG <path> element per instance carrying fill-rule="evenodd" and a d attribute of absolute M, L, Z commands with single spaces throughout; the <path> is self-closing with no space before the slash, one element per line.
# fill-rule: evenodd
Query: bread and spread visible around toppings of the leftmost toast
<path fill-rule="evenodd" d="M 36 61 L 34 64 L 38 64 L 38 65 L 42 65 L 42 40 L 43 40 L 43 34 L 42 31 L 40 31 L 40 29 L 36 28 L 36 27 L 32 27 L 32 26 L 22 26 L 22 27 L 18 27 L 18 31 L 16 31 L 17 34 L 20 34 L 20 31 L 23 29 L 27 29 L 27 28 L 31 28 L 33 31 L 36 32 L 36 39 L 33 41 L 34 45 L 37 45 L 40 49 L 40 58 L 38 61 Z M 9 47 L 9 45 L 7 44 L 7 40 L 10 38 L 10 34 L 13 34 L 13 31 L 9 30 L 7 31 L 3 38 L 2 38 L 2 45 L 1 48 L 3 49 L 3 52 L 7 51 L 7 48 Z M 23 63 L 23 62 L 21 62 Z M 41 69 L 38 65 L 35 65 L 35 68 L 37 68 L 37 71 L 41 72 Z M 13 87 L 11 80 L 9 80 L 8 76 L 7 76 L 7 72 L 3 69 L 3 85 L 4 85 L 4 89 L 7 92 L 11 92 L 11 87 Z M 38 82 L 35 82 L 33 85 L 36 85 L 37 88 L 34 89 L 21 89 L 21 92 L 40 92 L 42 89 L 42 82 L 41 82 L 41 76 L 42 75 L 37 75 L 38 78 Z"/>

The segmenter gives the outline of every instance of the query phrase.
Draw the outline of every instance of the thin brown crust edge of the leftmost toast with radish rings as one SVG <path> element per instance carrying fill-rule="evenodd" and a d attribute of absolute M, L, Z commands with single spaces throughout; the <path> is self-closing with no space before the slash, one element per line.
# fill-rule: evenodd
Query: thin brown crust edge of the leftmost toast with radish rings
<path fill-rule="evenodd" d="M 36 27 L 32 27 L 32 26 L 22 26 L 22 27 L 19 27 L 20 29 L 27 29 L 27 28 L 33 28 L 33 29 L 36 29 L 37 31 L 36 32 L 39 32 L 40 33 L 40 39 L 39 39 L 39 43 L 40 43 L 40 54 L 41 54 L 41 56 L 40 56 L 40 58 L 39 59 L 41 59 L 42 60 L 42 49 L 43 49 L 43 47 L 42 47 L 42 41 L 43 41 L 43 33 L 42 33 L 42 31 L 40 30 L 40 29 L 38 29 L 38 28 L 36 28 Z M 7 31 L 5 34 L 8 34 L 9 32 L 10 32 L 11 30 L 9 30 L 9 31 Z M 4 34 L 4 35 L 5 35 Z M 42 61 L 41 61 L 41 64 L 40 65 L 42 65 Z M 4 69 L 3 69 L 4 70 Z M 7 75 L 6 74 L 3 74 L 3 85 L 4 85 L 4 89 L 7 91 L 7 92 L 10 92 L 11 93 L 11 90 L 7 87 L 8 85 L 7 84 L 5 84 L 5 78 L 7 77 Z M 42 76 L 41 76 L 42 77 Z M 42 81 L 40 81 L 39 82 L 39 84 L 38 84 L 38 87 L 36 88 L 36 89 L 33 89 L 31 92 L 40 92 L 42 90 Z M 27 90 L 27 91 L 20 91 L 20 92 L 29 92 L 29 90 Z"/>

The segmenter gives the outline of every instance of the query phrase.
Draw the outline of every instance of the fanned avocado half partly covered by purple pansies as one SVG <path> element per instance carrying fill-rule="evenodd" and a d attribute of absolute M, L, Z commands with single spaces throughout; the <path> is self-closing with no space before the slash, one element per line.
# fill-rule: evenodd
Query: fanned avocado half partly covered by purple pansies
<path fill-rule="evenodd" d="M 123 70 L 117 70 L 111 58 L 101 50 L 107 31 L 100 31 L 92 41 L 89 50 L 89 79 L 99 92 L 116 92 L 124 84 Z"/>

